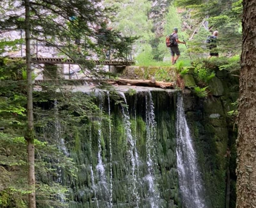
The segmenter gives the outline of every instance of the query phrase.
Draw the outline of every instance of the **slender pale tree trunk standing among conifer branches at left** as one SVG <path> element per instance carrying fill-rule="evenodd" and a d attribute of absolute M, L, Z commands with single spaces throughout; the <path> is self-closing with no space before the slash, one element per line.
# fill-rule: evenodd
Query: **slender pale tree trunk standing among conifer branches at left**
<path fill-rule="evenodd" d="M 36 207 L 36 180 L 35 180 L 35 145 L 34 145 L 34 119 L 33 119 L 33 83 L 30 55 L 30 14 L 29 0 L 25 0 L 25 34 L 26 34 L 26 62 L 27 62 L 27 111 L 28 129 L 25 139 L 28 142 L 28 194 L 29 208 Z"/>

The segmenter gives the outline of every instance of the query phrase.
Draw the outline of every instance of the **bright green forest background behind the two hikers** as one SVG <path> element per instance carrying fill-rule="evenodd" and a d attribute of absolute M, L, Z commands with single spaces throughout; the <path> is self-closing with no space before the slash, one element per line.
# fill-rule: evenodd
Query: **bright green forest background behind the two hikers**
<path fill-rule="evenodd" d="M 219 31 L 220 57 L 241 52 L 242 1 L 104 1 L 116 8 L 110 25 L 126 36 L 139 36 L 133 46 L 133 57 L 141 65 L 153 64 L 170 57 L 165 36 L 179 28 L 181 59 L 207 57 L 206 39 Z M 190 55 L 190 57 L 189 57 Z M 159 64 L 159 63 L 158 63 Z"/>

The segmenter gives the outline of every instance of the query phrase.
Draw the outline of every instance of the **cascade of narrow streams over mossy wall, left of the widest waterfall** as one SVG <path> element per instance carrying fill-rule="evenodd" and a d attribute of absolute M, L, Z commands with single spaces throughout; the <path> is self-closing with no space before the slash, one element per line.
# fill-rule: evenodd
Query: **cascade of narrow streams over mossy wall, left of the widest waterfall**
<path fill-rule="evenodd" d="M 69 208 L 178 208 L 176 94 L 142 91 L 113 98 L 97 92 L 101 112 L 69 124 L 74 131 L 68 134 L 55 122 L 46 129 L 77 165 L 75 177 L 63 168 L 56 174 L 69 190 L 63 202 Z"/>

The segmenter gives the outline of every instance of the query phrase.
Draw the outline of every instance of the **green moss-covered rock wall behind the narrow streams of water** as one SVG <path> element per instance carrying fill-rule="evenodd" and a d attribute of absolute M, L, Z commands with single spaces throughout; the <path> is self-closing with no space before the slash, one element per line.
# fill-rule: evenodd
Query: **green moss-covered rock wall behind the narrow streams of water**
<path fill-rule="evenodd" d="M 126 94 L 130 115 L 130 128 L 139 164 L 132 172 L 131 147 L 127 141 L 124 115 L 120 104 L 110 100 L 111 127 L 108 120 L 108 97 L 103 98 L 106 119 L 94 118 L 81 124 L 73 142 L 67 143 L 70 156 L 78 165 L 77 177 L 63 177 L 70 189 L 70 207 L 151 207 L 151 197 L 156 197 L 158 207 L 181 207 L 176 169 L 175 109 L 176 93 L 152 93 L 155 108 L 156 140 L 152 150 L 154 168 L 154 193 L 148 183 L 148 144 L 146 100 L 149 91 Z M 147 99 L 146 99 L 147 98 Z M 110 132 L 111 129 L 111 132 Z M 99 130 L 101 132 L 99 139 Z M 111 139 L 111 143 L 110 143 Z M 105 181 L 99 174 L 99 140 Z M 134 153 L 133 149 L 133 153 Z M 110 161 L 110 158 L 112 161 Z M 92 167 L 92 169 L 91 169 Z M 111 175 L 112 173 L 112 175 Z M 92 180 L 92 176 L 94 181 Z M 135 179 L 135 180 L 134 180 Z M 111 184 L 110 184 L 111 182 Z M 112 186 L 112 188 L 111 188 Z M 112 200 L 111 200 L 112 199 Z M 110 202 L 111 201 L 111 202 Z"/>

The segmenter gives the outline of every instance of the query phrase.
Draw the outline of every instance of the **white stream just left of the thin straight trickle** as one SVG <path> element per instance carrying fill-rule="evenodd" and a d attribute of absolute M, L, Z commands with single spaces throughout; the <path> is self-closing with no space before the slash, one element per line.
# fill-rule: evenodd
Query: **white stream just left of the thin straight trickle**
<path fill-rule="evenodd" d="M 102 112 L 102 105 L 103 105 L 103 99 L 102 99 L 102 93 L 99 94 L 100 104 L 99 108 Z M 102 132 L 101 132 L 101 118 L 98 122 L 99 128 L 98 128 L 98 164 L 96 165 L 96 169 L 99 175 L 99 185 L 100 185 L 100 193 L 102 195 L 102 198 L 106 198 L 108 201 L 108 183 L 107 183 L 107 177 L 106 177 L 106 171 L 105 171 L 105 165 L 102 162 L 102 149 L 101 149 L 101 143 L 102 143 Z M 104 192 L 104 194 L 103 194 Z M 103 196 L 104 195 L 104 196 Z M 108 204 L 109 205 L 109 204 Z M 108 206 L 109 207 L 109 206 Z"/>

